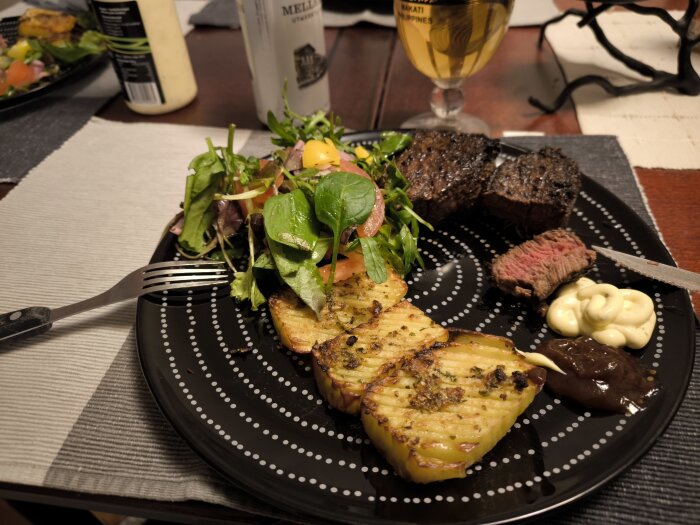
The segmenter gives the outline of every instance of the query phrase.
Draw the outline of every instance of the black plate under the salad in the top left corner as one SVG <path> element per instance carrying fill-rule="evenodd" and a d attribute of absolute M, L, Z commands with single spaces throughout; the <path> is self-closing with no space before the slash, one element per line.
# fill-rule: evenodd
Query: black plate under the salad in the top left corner
<path fill-rule="evenodd" d="M 0 35 L 5 37 L 8 44 L 14 43 L 17 38 L 18 23 L 19 17 L 0 19 Z M 0 114 L 14 111 L 19 106 L 33 103 L 62 86 L 80 80 L 106 60 L 107 53 L 102 53 L 101 55 L 87 56 L 74 64 L 62 65 L 57 75 L 40 80 L 27 91 L 0 99 Z"/>

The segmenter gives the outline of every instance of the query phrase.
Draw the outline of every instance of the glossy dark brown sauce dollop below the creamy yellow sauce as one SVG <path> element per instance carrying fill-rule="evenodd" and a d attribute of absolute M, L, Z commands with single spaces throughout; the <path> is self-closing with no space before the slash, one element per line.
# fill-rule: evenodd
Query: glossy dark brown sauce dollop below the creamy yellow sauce
<path fill-rule="evenodd" d="M 590 337 L 546 341 L 537 351 L 566 372 L 547 374 L 547 387 L 587 408 L 634 414 L 658 391 L 653 371 Z"/>

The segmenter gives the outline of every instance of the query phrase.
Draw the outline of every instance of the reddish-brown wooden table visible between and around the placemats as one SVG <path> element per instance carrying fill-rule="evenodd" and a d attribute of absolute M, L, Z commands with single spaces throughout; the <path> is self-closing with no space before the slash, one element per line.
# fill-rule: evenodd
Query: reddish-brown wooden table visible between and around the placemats
<path fill-rule="evenodd" d="M 559 0 L 562 8 L 580 2 Z M 683 1 L 648 2 L 680 9 Z M 537 28 L 511 28 L 491 63 L 465 83 L 468 111 L 486 120 L 494 136 L 504 130 L 541 131 L 548 135 L 580 134 L 576 113 L 567 103 L 554 115 L 530 106 L 534 95 L 551 100 L 564 85 L 564 77 L 548 45 L 537 49 Z M 188 107 L 162 116 L 132 113 L 120 97 L 98 115 L 136 122 L 170 122 L 208 126 L 263 129 L 252 103 L 253 94 L 240 31 L 198 28 L 187 43 L 199 86 L 197 99 Z M 331 104 L 344 125 L 354 130 L 398 127 L 407 117 L 428 108 L 432 84 L 409 63 L 393 29 L 358 25 L 328 29 L 326 44 L 330 64 Z M 693 170 L 635 168 L 651 211 L 672 255 L 680 266 L 700 272 L 700 166 Z M 0 198 L 13 186 L 0 184 Z M 696 311 L 700 294 L 694 296 Z M 159 519 L 206 516 L 240 519 L 239 513 L 204 504 L 165 504 L 127 498 L 86 497 L 39 488 L 0 484 L 4 497 L 31 499 L 79 508 L 148 515 Z M 257 521 L 257 520 L 256 520 Z M 261 520 L 259 523 L 274 520 Z"/>

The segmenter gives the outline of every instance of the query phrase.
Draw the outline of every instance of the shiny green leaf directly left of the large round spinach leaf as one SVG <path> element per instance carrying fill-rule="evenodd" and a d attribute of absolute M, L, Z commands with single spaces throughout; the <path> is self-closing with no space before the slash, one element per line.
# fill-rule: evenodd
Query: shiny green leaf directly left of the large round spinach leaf
<path fill-rule="evenodd" d="M 318 223 L 302 190 L 274 195 L 263 208 L 268 238 L 310 252 L 318 241 Z"/>

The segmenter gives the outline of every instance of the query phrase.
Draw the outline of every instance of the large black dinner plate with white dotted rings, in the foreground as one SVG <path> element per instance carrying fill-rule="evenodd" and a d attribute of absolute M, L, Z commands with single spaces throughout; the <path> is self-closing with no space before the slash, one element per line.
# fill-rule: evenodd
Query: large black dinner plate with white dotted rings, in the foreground
<path fill-rule="evenodd" d="M 348 136 L 361 144 L 377 137 Z M 656 234 L 588 177 L 569 227 L 587 245 L 673 264 Z M 176 258 L 175 241 L 167 234 L 153 261 Z M 522 350 L 534 349 L 555 335 L 488 278 L 492 258 L 517 242 L 478 215 L 448 220 L 422 235 L 426 268 L 407 277 L 407 297 L 448 328 L 503 335 Z M 251 312 L 228 297 L 227 287 L 141 298 L 139 356 L 161 410 L 191 447 L 235 485 L 282 509 L 362 524 L 531 519 L 583 497 L 634 463 L 671 421 L 690 379 L 695 347 L 688 294 L 602 257 L 589 277 L 652 297 L 657 326 L 633 355 L 657 371 L 660 392 L 643 412 L 620 415 L 587 410 L 544 390 L 461 480 L 418 485 L 395 475 L 359 421 L 321 399 L 310 358 L 279 347 L 267 308 Z"/>

